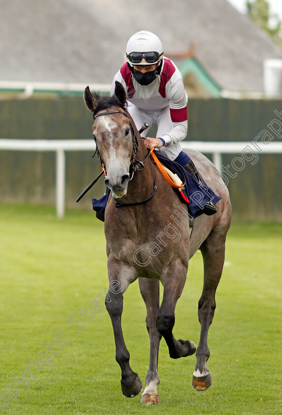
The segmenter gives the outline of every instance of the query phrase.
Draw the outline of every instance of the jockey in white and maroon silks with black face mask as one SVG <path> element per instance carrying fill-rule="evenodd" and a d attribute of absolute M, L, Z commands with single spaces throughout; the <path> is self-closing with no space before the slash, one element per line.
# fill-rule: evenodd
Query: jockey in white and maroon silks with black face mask
<path fill-rule="evenodd" d="M 160 154 L 183 166 L 199 183 L 202 178 L 193 161 L 181 149 L 179 141 L 187 134 L 187 94 L 176 65 L 164 57 L 160 39 L 151 32 L 141 31 L 133 35 L 126 46 L 127 62 L 117 72 L 115 81 L 127 90 L 128 111 L 137 129 L 144 123 L 157 125 L 156 138 L 146 137 L 148 150 L 156 147 Z M 208 202 L 203 212 L 212 215 L 216 207 Z"/>

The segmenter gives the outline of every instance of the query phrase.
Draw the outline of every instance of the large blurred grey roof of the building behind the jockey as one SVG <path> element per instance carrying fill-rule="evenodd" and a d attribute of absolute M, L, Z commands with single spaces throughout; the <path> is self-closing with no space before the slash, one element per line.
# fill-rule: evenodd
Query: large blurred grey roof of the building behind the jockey
<path fill-rule="evenodd" d="M 0 0 L 0 81 L 111 83 L 130 36 L 150 30 L 165 54 L 195 43 L 222 88 L 263 89 L 280 50 L 227 0 Z"/>

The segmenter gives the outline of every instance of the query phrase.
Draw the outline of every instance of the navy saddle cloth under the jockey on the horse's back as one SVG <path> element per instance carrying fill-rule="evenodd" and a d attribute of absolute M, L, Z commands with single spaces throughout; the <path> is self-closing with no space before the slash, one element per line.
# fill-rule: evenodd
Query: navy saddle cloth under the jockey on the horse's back
<path fill-rule="evenodd" d="M 212 191 L 212 189 L 210 189 L 207 186 L 203 178 L 202 180 L 203 180 L 204 186 L 202 187 L 198 183 L 198 181 L 194 179 L 194 177 L 191 176 L 191 174 L 188 173 L 187 170 L 185 170 L 184 167 L 180 166 L 178 163 L 174 161 L 167 159 L 164 156 L 157 154 L 157 152 L 155 154 L 161 163 L 165 164 L 165 166 L 167 166 L 172 171 L 174 171 L 176 174 L 178 174 L 179 177 L 182 177 L 183 175 L 185 176 L 186 178 L 185 191 L 190 201 L 189 204 L 187 203 L 187 207 L 188 207 L 188 212 L 191 216 L 197 217 L 203 214 L 202 209 L 210 200 L 212 200 L 213 205 L 215 205 L 221 199 L 220 196 L 217 196 Z M 107 189 L 106 194 L 102 196 L 102 198 L 92 199 L 93 210 L 96 211 L 97 218 L 102 220 L 103 222 L 105 220 L 105 209 L 106 209 L 107 200 L 109 198 L 109 194 L 110 194 L 110 190 Z M 182 199 L 180 193 L 179 193 L 179 197 Z"/>

